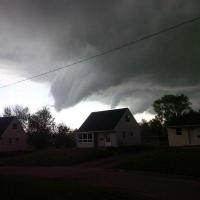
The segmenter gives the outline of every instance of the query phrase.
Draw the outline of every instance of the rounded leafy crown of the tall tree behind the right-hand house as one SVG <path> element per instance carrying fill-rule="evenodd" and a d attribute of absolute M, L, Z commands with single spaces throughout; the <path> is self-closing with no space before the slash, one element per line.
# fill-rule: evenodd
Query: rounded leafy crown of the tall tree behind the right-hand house
<path fill-rule="evenodd" d="M 166 123 L 174 117 L 180 117 L 192 110 L 189 98 L 181 95 L 164 95 L 154 101 L 153 108 L 156 118 L 161 123 Z"/>

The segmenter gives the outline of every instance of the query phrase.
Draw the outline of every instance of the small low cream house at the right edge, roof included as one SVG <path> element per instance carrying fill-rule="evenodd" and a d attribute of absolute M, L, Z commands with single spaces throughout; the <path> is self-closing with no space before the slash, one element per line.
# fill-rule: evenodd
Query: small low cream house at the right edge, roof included
<path fill-rule="evenodd" d="M 186 115 L 168 125 L 169 146 L 200 145 L 200 117 Z"/>

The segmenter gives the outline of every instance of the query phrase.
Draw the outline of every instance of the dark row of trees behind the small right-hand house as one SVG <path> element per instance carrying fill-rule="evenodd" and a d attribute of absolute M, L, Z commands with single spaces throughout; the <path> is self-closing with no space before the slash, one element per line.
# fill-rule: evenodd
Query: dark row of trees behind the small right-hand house
<path fill-rule="evenodd" d="M 200 110 L 192 108 L 190 99 L 184 95 L 164 95 L 153 102 L 155 117 L 140 124 L 143 143 L 166 144 L 167 126 L 183 119 L 200 120 Z"/>

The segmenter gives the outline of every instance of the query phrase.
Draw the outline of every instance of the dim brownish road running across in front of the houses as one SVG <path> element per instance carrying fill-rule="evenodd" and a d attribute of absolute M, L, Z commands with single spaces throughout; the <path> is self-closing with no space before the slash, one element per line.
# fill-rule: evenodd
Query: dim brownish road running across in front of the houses
<path fill-rule="evenodd" d="M 141 172 L 86 167 L 0 167 L 0 175 L 40 176 L 110 187 L 145 199 L 199 200 L 200 182 Z"/>

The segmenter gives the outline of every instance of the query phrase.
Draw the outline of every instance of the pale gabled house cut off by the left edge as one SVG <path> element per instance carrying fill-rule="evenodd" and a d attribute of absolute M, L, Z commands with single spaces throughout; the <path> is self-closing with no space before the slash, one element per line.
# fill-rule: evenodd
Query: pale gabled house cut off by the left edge
<path fill-rule="evenodd" d="M 0 152 L 24 151 L 26 134 L 16 117 L 0 117 Z"/>

